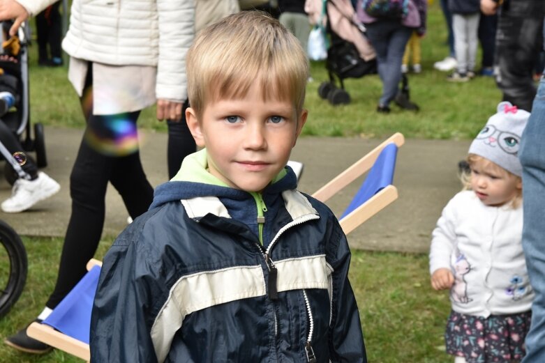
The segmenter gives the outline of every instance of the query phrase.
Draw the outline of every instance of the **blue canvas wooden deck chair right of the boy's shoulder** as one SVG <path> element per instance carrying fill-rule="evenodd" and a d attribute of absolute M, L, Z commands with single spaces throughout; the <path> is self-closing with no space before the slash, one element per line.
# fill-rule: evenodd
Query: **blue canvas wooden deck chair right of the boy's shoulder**
<path fill-rule="evenodd" d="M 339 218 L 345 234 L 353 231 L 397 199 L 397 188 L 392 185 L 392 182 L 397 149 L 404 143 L 403 134 L 399 132 L 393 134 L 313 194 L 313 197 L 325 202 L 369 171 L 354 199 Z"/>

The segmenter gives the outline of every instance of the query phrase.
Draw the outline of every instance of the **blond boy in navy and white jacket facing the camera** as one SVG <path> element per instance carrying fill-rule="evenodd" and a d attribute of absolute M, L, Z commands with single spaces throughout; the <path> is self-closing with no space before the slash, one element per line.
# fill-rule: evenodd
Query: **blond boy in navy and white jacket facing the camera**
<path fill-rule="evenodd" d="M 230 15 L 187 70 L 204 149 L 105 256 L 91 362 L 366 362 L 345 235 L 285 167 L 307 116 L 297 38 Z"/>

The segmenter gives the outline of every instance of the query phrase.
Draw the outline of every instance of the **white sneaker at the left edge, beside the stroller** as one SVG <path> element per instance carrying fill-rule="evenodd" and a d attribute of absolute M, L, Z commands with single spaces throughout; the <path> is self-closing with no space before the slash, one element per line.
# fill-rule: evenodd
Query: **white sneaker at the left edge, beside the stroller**
<path fill-rule="evenodd" d="M 34 180 L 17 179 L 13 184 L 11 196 L 3 201 L 1 208 L 6 213 L 19 213 L 31 208 L 59 192 L 61 186 L 46 173 L 38 172 Z"/>

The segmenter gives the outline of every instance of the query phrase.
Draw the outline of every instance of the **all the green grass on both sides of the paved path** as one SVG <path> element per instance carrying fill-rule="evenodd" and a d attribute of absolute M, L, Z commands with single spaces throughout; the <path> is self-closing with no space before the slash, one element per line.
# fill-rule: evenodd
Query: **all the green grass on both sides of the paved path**
<path fill-rule="evenodd" d="M 446 29 L 438 4 L 428 12 L 428 33 L 422 40 L 424 72 L 410 75 L 412 100 L 421 111 L 381 115 L 375 112 L 381 84 L 377 75 L 348 79 L 350 105 L 332 107 L 318 97 L 320 82 L 327 80 L 323 62 L 313 62 L 314 82 L 308 84 L 306 107 L 310 114 L 303 136 L 385 137 L 400 131 L 408 138 L 470 139 L 493 114 L 501 98 L 493 79 L 477 77 L 467 84 L 451 84 L 446 74 L 433 70 L 443 59 Z M 31 117 L 45 125 L 82 128 L 84 121 L 77 95 L 64 68 L 38 68 L 36 46 L 31 47 Z M 121 97 L 121 95 L 120 95 Z M 154 108 L 143 111 L 140 125 L 165 131 L 155 119 Z M 47 137 L 46 137 L 47 141 Z M 100 243 L 102 258 L 114 236 Z M 52 291 L 62 247 L 60 238 L 23 238 L 29 255 L 29 278 L 22 297 L 8 316 L 0 319 L 0 339 L 29 323 Z M 429 286 L 425 255 L 354 251 L 350 270 L 371 363 L 451 362 L 442 351 L 442 334 L 449 312 L 447 293 Z M 15 352 L 0 343 L 3 362 L 78 362 L 54 351 L 44 356 Z"/>

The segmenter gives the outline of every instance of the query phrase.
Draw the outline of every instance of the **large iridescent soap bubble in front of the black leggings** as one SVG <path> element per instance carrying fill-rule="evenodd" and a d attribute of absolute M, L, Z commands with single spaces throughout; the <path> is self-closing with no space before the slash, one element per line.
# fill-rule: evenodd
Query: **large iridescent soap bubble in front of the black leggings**
<path fill-rule="evenodd" d="M 138 132 L 135 122 L 126 115 L 94 118 L 87 125 L 85 140 L 98 153 L 126 156 L 138 150 Z"/>

